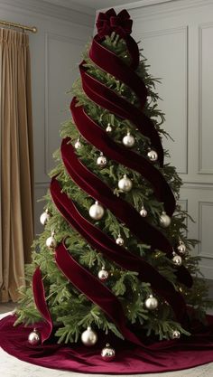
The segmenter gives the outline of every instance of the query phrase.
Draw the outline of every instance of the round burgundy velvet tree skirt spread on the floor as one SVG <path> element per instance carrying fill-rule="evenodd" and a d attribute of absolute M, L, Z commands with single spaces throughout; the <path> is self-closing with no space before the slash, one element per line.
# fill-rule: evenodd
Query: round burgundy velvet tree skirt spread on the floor
<path fill-rule="evenodd" d="M 101 359 L 101 349 L 106 339 L 100 339 L 92 348 L 82 344 L 56 344 L 55 340 L 32 346 L 27 338 L 32 327 L 14 327 L 15 316 L 0 321 L 0 346 L 24 362 L 47 368 L 88 373 L 149 373 L 187 369 L 213 361 L 213 316 L 208 316 L 208 326 L 197 327 L 197 333 L 175 341 L 135 346 L 116 337 L 110 339 L 116 349 L 116 359 L 106 363 Z M 43 323 L 37 324 L 38 330 Z M 199 331 L 199 332 L 198 332 Z"/>

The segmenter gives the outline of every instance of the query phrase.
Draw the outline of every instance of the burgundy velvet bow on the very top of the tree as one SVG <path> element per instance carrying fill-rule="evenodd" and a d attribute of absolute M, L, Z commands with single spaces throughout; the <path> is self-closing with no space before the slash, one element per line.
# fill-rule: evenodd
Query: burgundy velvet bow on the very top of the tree
<path fill-rule="evenodd" d="M 106 13 L 99 13 L 97 17 L 97 34 L 100 38 L 115 32 L 121 38 L 132 33 L 133 20 L 124 9 L 116 15 L 115 10 L 109 9 Z"/>

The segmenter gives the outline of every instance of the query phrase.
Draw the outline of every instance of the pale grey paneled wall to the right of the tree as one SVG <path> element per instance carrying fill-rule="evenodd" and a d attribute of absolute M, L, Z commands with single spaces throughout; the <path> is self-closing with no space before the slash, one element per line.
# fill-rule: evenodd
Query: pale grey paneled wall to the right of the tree
<path fill-rule="evenodd" d="M 159 108 L 174 139 L 163 146 L 183 181 L 181 204 L 195 221 L 188 221 L 189 237 L 200 240 L 194 252 L 202 257 L 206 278 L 213 278 L 213 1 L 144 4 L 126 6 L 133 36 L 141 41 L 150 73 L 162 80 L 156 85 Z"/>

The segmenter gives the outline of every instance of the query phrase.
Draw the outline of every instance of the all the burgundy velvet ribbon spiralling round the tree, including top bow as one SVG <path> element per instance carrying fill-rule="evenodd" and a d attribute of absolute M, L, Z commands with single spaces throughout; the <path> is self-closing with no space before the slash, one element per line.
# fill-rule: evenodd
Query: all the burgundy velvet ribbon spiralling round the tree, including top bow
<path fill-rule="evenodd" d="M 82 80 L 82 87 L 88 99 L 95 102 L 122 119 L 132 122 L 138 132 L 144 137 L 148 137 L 150 146 L 158 154 L 159 165 L 163 165 L 163 149 L 161 138 L 154 127 L 153 121 L 145 116 L 143 112 L 147 98 L 147 89 L 144 81 L 136 73 L 139 63 L 139 51 L 137 43 L 130 36 L 132 20 L 126 11 L 120 14 L 114 10 L 109 10 L 106 14 L 99 14 L 97 19 L 97 35 L 94 37 L 89 51 L 89 58 L 101 70 L 113 75 L 116 80 L 120 80 L 129 87 L 137 97 L 140 108 L 135 107 L 124 97 L 116 94 L 114 90 L 106 87 L 103 82 L 99 82 L 90 76 L 85 66 L 85 61 L 79 65 Z M 115 32 L 125 39 L 128 53 L 131 57 L 130 65 L 119 59 L 114 52 L 106 49 L 102 43 L 106 35 Z M 169 184 L 167 184 L 161 172 L 145 157 L 139 156 L 134 151 L 127 150 L 124 146 L 118 145 L 106 134 L 97 123 L 89 118 L 82 106 L 79 106 L 78 99 L 74 98 L 70 104 L 72 118 L 79 129 L 81 136 L 89 144 L 96 146 L 109 159 L 118 164 L 125 165 L 129 169 L 142 175 L 153 187 L 156 199 L 163 203 L 168 215 L 172 216 L 175 210 L 175 199 Z M 151 245 L 152 250 L 162 250 L 168 257 L 172 256 L 172 245 L 166 236 L 157 227 L 146 221 L 132 205 L 127 203 L 121 196 L 116 197 L 112 189 L 104 184 L 96 174 L 88 170 L 83 165 L 71 145 L 71 139 L 65 138 L 61 144 L 61 156 L 63 163 L 71 179 L 94 200 L 101 203 L 105 208 L 114 213 L 116 218 L 125 223 L 129 230 L 138 239 Z M 186 305 L 183 297 L 172 286 L 171 282 L 154 269 L 144 259 L 134 255 L 125 248 L 116 245 L 103 231 L 98 229 L 91 221 L 85 219 L 78 211 L 76 205 L 62 193 L 57 177 L 51 180 L 52 200 L 61 215 L 69 222 L 70 226 L 79 232 L 97 252 L 101 252 L 107 259 L 114 261 L 120 268 L 138 272 L 141 281 L 149 282 L 153 290 L 166 300 L 172 307 L 174 314 L 182 325 L 186 324 Z M 56 264 L 69 281 L 84 293 L 89 300 L 96 303 L 108 316 L 124 335 L 126 340 L 134 344 L 143 344 L 127 325 L 124 309 L 117 297 L 102 282 L 94 277 L 87 269 L 82 268 L 79 263 L 72 258 L 71 251 L 66 250 L 64 243 L 58 245 L 55 252 Z M 190 273 L 183 266 L 177 270 L 177 278 L 181 283 L 191 287 L 192 278 Z M 51 335 L 51 316 L 45 303 L 45 293 L 42 285 L 41 271 L 37 269 L 34 274 L 33 293 L 35 304 L 42 316 L 46 320 L 48 329 L 46 335 L 42 335 L 42 340 Z M 38 283 L 38 287 L 35 284 Z M 42 295 L 40 295 L 41 290 Z M 45 326 L 44 326 L 45 327 Z M 48 333 L 49 331 L 49 333 Z"/>

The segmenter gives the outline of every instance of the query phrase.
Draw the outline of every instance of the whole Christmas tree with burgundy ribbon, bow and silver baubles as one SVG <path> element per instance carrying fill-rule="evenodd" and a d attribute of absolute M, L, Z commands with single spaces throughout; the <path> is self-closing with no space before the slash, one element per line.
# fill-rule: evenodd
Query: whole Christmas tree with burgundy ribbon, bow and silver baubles
<path fill-rule="evenodd" d="M 51 333 L 86 345 L 110 333 L 134 344 L 190 336 L 191 317 L 204 320 L 209 306 L 181 178 L 163 162 L 157 80 L 131 28 L 126 11 L 99 14 L 73 85 L 16 310 L 16 325 L 46 321 L 42 342 Z"/>

